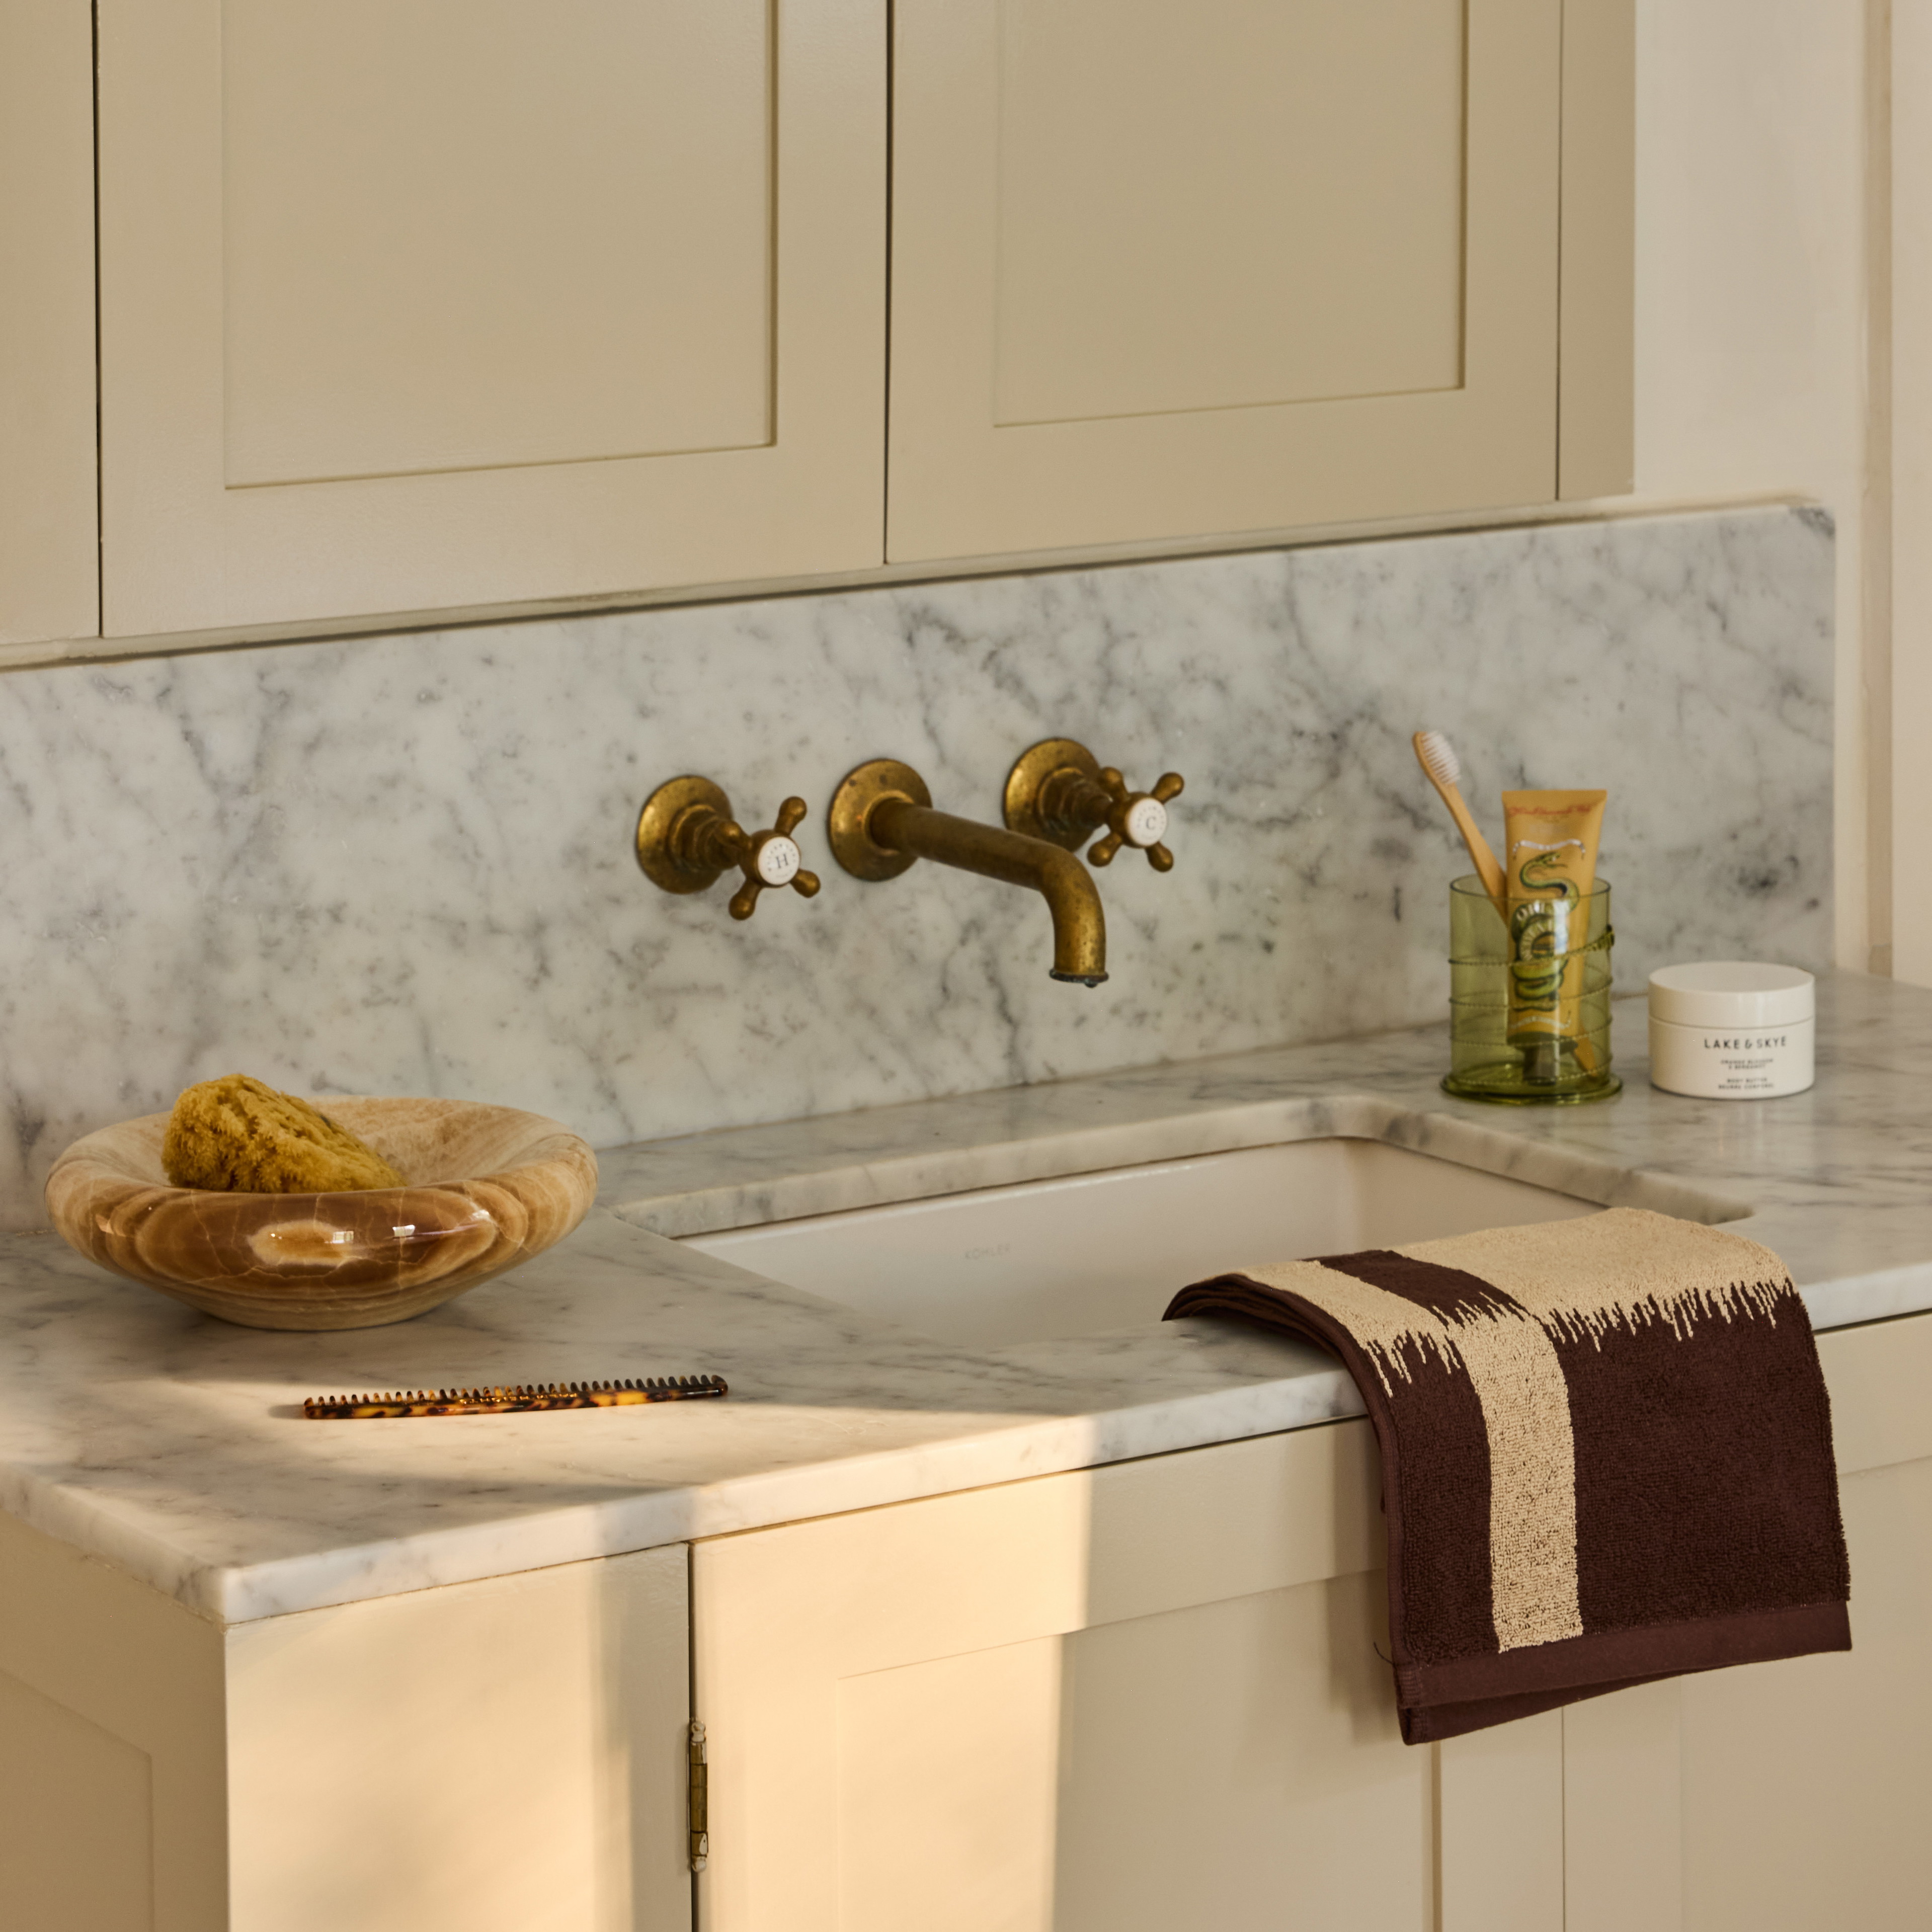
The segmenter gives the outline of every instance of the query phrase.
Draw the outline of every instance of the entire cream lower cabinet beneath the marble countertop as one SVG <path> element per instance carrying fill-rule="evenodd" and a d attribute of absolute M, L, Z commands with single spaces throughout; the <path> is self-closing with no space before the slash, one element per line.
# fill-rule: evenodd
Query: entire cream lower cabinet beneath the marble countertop
<path fill-rule="evenodd" d="M 1820 1349 L 1857 1648 L 1422 1748 L 1364 1422 L 226 1629 L 0 1515 L 0 1926 L 1922 1932 L 1932 1316 Z"/>

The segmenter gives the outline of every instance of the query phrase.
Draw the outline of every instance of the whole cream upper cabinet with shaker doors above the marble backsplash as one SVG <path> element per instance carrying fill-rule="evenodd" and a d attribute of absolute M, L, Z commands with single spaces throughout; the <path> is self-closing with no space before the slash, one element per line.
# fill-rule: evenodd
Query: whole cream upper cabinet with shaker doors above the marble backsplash
<path fill-rule="evenodd" d="M 1625 489 L 1633 6 L 100 0 L 100 628 Z M 73 19 L 0 641 L 95 622 Z"/>

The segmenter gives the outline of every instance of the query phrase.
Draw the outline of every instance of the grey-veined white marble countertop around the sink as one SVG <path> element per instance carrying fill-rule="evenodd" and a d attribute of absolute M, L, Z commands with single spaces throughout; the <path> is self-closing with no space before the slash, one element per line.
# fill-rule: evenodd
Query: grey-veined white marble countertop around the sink
<path fill-rule="evenodd" d="M 1932 993 L 1820 983 L 1810 1094 L 1646 1084 L 1493 1109 L 1435 1086 L 1439 1028 L 732 1128 L 603 1155 L 560 1248 L 415 1321 L 228 1327 L 0 1238 L 0 1507 L 245 1621 L 1360 1412 L 1325 1356 L 1211 1321 L 966 1349 L 667 1236 L 1316 1134 L 1592 1200 L 1748 1209 L 1820 1327 L 1932 1308 Z M 313 1424 L 305 1395 L 713 1370 L 726 1403 Z"/>

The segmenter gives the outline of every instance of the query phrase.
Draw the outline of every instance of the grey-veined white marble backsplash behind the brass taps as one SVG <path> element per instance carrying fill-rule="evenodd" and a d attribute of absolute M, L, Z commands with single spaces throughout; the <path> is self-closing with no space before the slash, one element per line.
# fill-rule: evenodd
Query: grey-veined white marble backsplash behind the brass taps
<path fill-rule="evenodd" d="M 556 1115 L 597 1146 L 1426 1020 L 1466 869 L 1408 734 L 1611 792 L 1617 978 L 1824 966 L 1832 533 L 1816 512 L 1493 529 L 272 645 L 0 676 L 0 1225 L 77 1134 L 247 1070 Z M 1157 877 L 1099 873 L 1105 987 L 1045 908 L 862 885 L 860 759 L 995 819 L 1082 738 L 1186 775 Z M 651 887 L 645 794 L 798 792 L 804 902 Z"/>

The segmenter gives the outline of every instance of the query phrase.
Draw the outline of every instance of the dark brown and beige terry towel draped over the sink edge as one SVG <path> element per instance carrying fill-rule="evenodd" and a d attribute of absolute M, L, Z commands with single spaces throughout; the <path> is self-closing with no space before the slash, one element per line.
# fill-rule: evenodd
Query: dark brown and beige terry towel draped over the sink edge
<path fill-rule="evenodd" d="M 1381 1443 L 1410 1745 L 1849 1650 L 1832 1408 L 1770 1248 L 1611 1208 L 1182 1289 L 1339 1354 Z"/>

